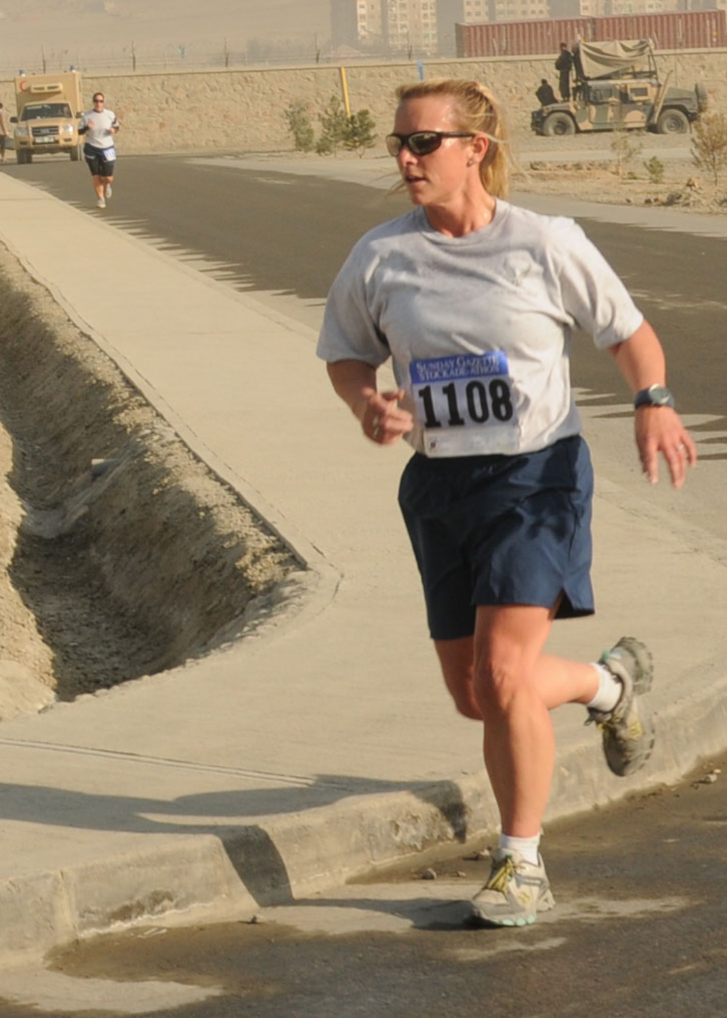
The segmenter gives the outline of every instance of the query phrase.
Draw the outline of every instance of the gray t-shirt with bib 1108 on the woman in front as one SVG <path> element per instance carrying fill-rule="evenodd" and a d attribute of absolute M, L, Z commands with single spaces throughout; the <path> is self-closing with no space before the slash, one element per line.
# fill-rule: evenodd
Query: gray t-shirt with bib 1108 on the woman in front
<path fill-rule="evenodd" d="M 572 220 L 498 201 L 482 230 L 447 237 L 422 208 L 367 233 L 336 277 L 318 354 L 393 358 L 428 456 L 512 455 L 580 432 L 569 349 L 606 348 L 644 317 Z"/>

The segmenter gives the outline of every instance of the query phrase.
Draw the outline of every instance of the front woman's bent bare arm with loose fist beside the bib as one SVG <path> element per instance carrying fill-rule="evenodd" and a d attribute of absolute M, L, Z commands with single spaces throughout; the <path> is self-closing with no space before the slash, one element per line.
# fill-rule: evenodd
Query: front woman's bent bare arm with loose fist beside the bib
<path fill-rule="evenodd" d="M 398 401 L 403 390 L 379 392 L 376 369 L 364 360 L 336 360 L 327 364 L 336 393 L 358 418 L 364 434 L 380 445 L 393 445 L 413 428 L 411 414 Z"/>

